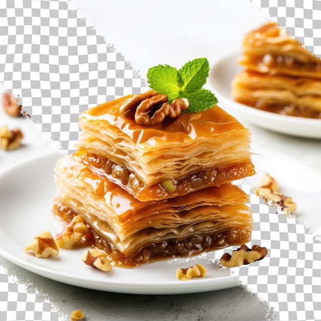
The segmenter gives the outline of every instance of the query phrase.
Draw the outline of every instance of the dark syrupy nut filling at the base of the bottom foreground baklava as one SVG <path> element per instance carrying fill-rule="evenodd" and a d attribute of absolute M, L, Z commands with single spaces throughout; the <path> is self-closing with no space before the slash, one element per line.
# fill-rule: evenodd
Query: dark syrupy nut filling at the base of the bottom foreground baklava
<path fill-rule="evenodd" d="M 59 204 L 58 201 L 54 204 L 53 213 L 64 223 L 69 223 L 77 215 L 73 210 Z M 89 232 L 84 236 L 88 245 L 104 251 L 108 254 L 112 265 L 122 268 L 136 268 L 159 260 L 198 255 L 233 245 L 242 245 L 248 243 L 251 239 L 250 231 L 235 227 L 212 235 L 196 234 L 187 239 L 151 243 L 139 249 L 135 254 L 126 256 L 116 249 L 107 238 L 102 237 L 90 224 L 88 224 L 88 227 Z"/>

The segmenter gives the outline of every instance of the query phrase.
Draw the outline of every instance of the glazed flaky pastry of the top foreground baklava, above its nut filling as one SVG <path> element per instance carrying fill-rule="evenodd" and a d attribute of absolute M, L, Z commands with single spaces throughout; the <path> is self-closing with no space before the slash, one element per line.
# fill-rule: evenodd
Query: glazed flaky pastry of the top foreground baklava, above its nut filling
<path fill-rule="evenodd" d="M 119 113 L 130 96 L 83 112 L 76 148 L 126 167 L 148 186 L 251 161 L 248 129 L 218 106 L 144 126 Z"/>

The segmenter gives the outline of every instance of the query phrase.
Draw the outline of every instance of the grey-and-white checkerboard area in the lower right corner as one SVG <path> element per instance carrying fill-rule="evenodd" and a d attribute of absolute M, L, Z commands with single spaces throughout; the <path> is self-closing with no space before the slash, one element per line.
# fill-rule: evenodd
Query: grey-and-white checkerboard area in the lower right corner
<path fill-rule="evenodd" d="M 248 192 L 250 184 L 240 187 Z M 288 217 L 252 192 L 249 196 L 254 224 L 248 246 L 257 244 L 269 253 L 258 262 L 232 268 L 232 272 L 248 290 L 269 302 L 273 319 L 321 320 L 320 240 L 294 216 Z"/>

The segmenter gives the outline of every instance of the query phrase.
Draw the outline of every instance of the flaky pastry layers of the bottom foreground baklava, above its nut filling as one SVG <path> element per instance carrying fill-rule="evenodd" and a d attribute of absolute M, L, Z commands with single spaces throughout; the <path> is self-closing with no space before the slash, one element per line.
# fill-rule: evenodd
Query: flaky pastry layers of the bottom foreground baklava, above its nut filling
<path fill-rule="evenodd" d="M 251 216 L 244 205 L 248 201 L 247 194 L 236 186 L 225 184 L 185 196 L 140 202 L 109 179 L 91 172 L 82 163 L 72 162 L 70 165 L 70 155 L 58 160 L 55 182 L 59 202 L 86 217 L 94 215 L 106 222 L 122 242 L 149 228 L 158 233 L 163 228 L 202 223 L 222 212 L 233 212 L 233 205 L 240 204 L 238 210 Z"/>

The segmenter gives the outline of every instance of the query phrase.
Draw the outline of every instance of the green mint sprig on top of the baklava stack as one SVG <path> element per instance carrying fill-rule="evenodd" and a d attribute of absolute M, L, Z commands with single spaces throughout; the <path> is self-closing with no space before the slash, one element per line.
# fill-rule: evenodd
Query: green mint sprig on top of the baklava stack
<path fill-rule="evenodd" d="M 158 93 L 166 94 L 171 103 L 176 98 L 187 98 L 189 107 L 185 112 L 198 112 L 217 104 L 215 95 L 203 86 L 209 74 L 207 58 L 197 58 L 177 70 L 169 65 L 149 68 L 149 87 Z"/>

